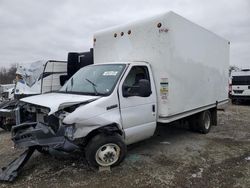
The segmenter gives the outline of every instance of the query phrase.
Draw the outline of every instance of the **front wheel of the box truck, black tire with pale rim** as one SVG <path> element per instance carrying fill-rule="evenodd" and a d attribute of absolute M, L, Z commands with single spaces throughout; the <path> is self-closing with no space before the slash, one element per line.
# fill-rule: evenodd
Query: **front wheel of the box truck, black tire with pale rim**
<path fill-rule="evenodd" d="M 116 166 L 126 155 L 127 147 L 119 134 L 99 134 L 93 137 L 85 149 L 85 156 L 91 166 Z"/>

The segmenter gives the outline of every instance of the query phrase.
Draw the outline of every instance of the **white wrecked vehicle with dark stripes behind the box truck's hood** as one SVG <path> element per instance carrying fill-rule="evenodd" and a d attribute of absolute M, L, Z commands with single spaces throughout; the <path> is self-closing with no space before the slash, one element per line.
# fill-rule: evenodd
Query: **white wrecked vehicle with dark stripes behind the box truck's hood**
<path fill-rule="evenodd" d="M 56 91 L 61 88 L 62 75 L 67 75 L 66 61 L 37 61 L 20 65 L 16 71 L 15 95 L 23 98 Z"/>

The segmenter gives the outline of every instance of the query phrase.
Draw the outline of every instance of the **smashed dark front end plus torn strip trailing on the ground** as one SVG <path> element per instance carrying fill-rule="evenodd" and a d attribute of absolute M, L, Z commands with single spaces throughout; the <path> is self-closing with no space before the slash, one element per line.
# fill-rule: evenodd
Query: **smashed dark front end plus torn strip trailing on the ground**
<path fill-rule="evenodd" d="M 72 112 L 59 110 L 49 115 L 50 109 L 29 103 L 19 103 L 16 109 L 16 125 L 12 127 L 12 140 L 16 148 L 26 149 L 0 172 L 0 181 L 12 182 L 18 176 L 35 150 L 52 155 L 65 155 L 80 148 L 73 142 L 74 125 L 62 123 Z"/>

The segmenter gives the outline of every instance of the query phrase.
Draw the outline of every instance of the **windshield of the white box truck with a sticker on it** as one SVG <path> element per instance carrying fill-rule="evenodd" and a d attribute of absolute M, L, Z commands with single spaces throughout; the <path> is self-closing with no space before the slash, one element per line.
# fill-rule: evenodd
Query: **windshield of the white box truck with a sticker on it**
<path fill-rule="evenodd" d="M 59 92 L 86 95 L 109 95 L 125 64 L 91 65 L 75 73 Z"/>

